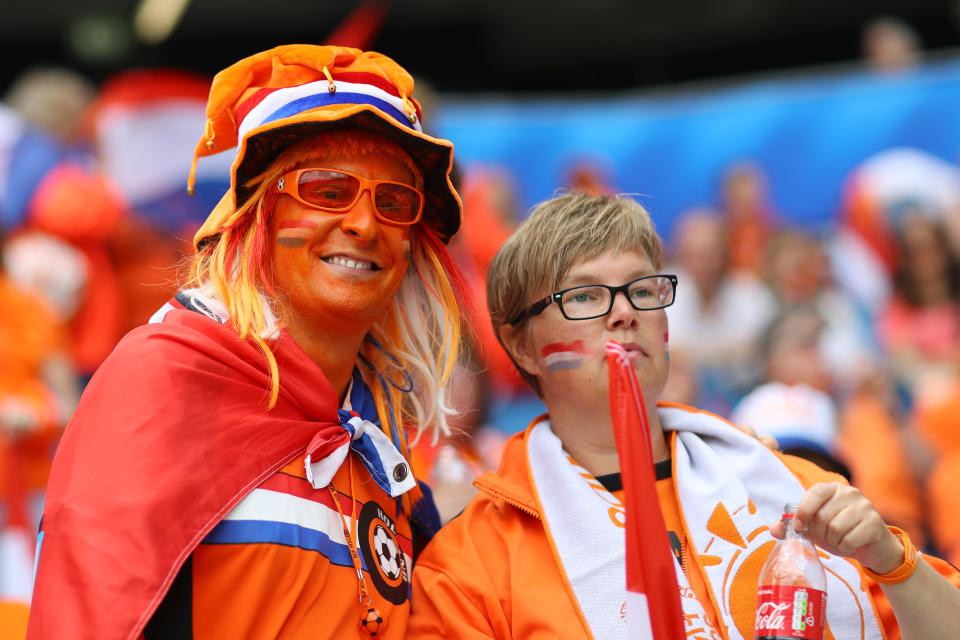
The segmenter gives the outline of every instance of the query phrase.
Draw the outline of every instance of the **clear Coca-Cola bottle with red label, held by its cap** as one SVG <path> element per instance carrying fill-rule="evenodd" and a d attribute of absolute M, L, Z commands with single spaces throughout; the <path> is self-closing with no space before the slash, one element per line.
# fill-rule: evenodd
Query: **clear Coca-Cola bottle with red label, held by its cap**
<path fill-rule="evenodd" d="M 783 507 L 783 540 L 760 570 L 755 640 L 823 640 L 827 575 L 808 536 L 793 528 L 797 505 Z"/>

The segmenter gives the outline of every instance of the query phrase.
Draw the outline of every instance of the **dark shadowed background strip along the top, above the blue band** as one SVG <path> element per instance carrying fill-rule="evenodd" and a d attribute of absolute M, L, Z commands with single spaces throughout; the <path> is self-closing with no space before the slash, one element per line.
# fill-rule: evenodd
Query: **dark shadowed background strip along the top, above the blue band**
<path fill-rule="evenodd" d="M 4 2 L 0 88 L 28 64 L 93 80 L 131 67 L 213 74 L 277 44 L 322 42 L 358 3 L 193 0 L 161 44 L 139 43 L 135 0 Z M 592 92 L 829 65 L 860 57 L 878 15 L 927 50 L 960 43 L 956 0 L 396 0 L 372 47 L 440 91 Z"/>

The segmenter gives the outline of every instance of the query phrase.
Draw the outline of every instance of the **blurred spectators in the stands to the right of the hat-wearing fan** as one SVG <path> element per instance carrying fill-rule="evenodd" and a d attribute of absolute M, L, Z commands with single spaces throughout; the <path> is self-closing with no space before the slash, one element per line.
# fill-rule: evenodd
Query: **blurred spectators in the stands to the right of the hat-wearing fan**
<path fill-rule="evenodd" d="M 845 476 L 886 521 L 957 563 L 960 167 L 894 148 L 842 179 L 834 223 L 814 230 L 775 209 L 762 166 L 736 161 L 717 176 L 715 201 L 662 230 L 663 271 L 679 278 L 664 399 L 775 436 L 783 452 Z M 572 170 L 566 187 L 628 190 L 589 166 Z M 488 465 L 496 456 L 478 449 L 486 434 L 516 432 L 539 410 L 484 316 L 484 265 L 522 216 L 514 191 L 502 170 L 465 171 L 454 243 L 477 295 L 462 427 L 485 438 L 441 449 Z M 473 477 L 458 469 L 458 480 Z"/>

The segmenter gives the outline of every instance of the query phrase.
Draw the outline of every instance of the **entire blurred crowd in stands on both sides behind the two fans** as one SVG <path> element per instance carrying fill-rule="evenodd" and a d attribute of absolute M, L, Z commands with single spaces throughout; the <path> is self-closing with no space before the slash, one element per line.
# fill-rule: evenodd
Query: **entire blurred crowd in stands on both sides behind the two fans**
<path fill-rule="evenodd" d="M 42 69 L 0 103 L 0 621 L 4 601 L 29 601 L 32 561 L 15 557 L 32 554 L 52 454 L 84 384 L 177 290 L 178 264 L 215 201 L 202 167 L 199 197 L 182 194 L 198 131 L 188 128 L 179 155 L 158 151 L 181 139 L 177 109 L 202 109 L 206 87 L 173 72 L 95 87 Z M 151 121 L 173 127 L 152 138 L 131 116 L 147 94 L 166 97 Z M 422 438 L 413 461 L 444 518 L 542 411 L 486 318 L 487 264 L 524 214 L 516 178 L 458 169 L 465 213 L 451 248 L 474 296 L 470 357 L 456 374 L 459 431 Z M 846 476 L 918 546 L 960 564 L 960 169 L 890 149 L 842 178 L 827 230 L 788 223 L 749 159 L 716 176 L 714 201 L 660 229 L 664 273 L 679 278 L 665 396 Z M 589 164 L 564 183 L 630 186 Z"/>

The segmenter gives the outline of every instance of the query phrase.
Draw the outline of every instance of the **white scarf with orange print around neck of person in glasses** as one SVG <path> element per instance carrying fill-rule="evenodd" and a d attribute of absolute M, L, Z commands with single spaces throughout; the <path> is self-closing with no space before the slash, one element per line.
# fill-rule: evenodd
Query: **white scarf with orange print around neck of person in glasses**
<path fill-rule="evenodd" d="M 756 580 L 774 542 L 769 525 L 804 488 L 755 438 L 709 413 L 660 407 L 677 433 L 674 482 L 696 564 L 730 640 L 753 637 Z M 527 458 L 544 528 L 583 619 L 595 638 L 626 634 L 623 507 L 564 451 L 549 420 L 530 427 Z M 824 557 L 826 556 L 826 557 Z M 821 554 L 827 622 L 836 638 L 880 640 L 884 633 L 857 564 Z M 676 563 L 688 637 L 719 638 Z"/>

